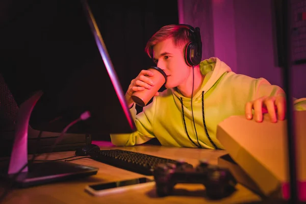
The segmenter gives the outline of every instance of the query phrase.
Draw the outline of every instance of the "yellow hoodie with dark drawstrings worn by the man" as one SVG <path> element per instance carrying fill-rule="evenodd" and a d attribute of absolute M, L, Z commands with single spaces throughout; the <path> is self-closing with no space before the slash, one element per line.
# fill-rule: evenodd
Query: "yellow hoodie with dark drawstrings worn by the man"
<path fill-rule="evenodd" d="M 143 107 L 141 113 L 137 114 L 133 106 L 130 111 L 137 131 L 132 134 L 111 134 L 112 143 L 132 146 L 156 137 L 165 146 L 198 147 L 200 144 L 203 148 L 223 149 L 216 139 L 219 122 L 233 115 L 244 115 L 248 101 L 284 94 L 283 89 L 263 78 L 253 79 L 232 72 L 218 58 L 204 60 L 199 67 L 206 77 L 201 89 L 193 96 L 194 122 L 191 99 L 177 92 L 176 88 L 166 89 L 155 96 L 152 103 Z M 297 101 L 295 105 L 299 103 L 302 101 Z M 303 106 L 297 109 L 306 110 Z"/>

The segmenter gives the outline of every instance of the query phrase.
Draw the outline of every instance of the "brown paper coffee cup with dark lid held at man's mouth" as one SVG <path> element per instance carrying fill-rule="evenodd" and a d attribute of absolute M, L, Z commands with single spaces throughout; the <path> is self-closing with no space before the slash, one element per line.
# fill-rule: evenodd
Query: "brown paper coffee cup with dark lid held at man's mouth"
<path fill-rule="evenodd" d="M 155 93 L 167 82 L 167 75 L 161 68 L 151 66 L 148 70 L 154 73 L 152 77 L 147 77 L 151 78 L 155 85 L 151 89 L 135 91 L 132 95 L 132 100 L 141 107 L 146 106 Z"/>

